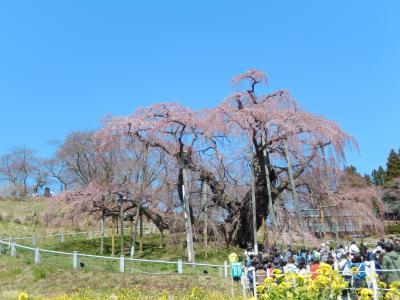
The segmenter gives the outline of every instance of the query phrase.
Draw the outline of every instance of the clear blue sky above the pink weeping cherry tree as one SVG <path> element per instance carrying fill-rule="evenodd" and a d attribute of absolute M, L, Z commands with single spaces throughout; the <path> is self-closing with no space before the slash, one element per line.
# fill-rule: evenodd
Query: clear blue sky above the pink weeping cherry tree
<path fill-rule="evenodd" d="M 95 128 L 107 113 L 211 107 L 257 68 L 360 144 L 400 147 L 400 1 L 1 1 L 0 153 Z"/>

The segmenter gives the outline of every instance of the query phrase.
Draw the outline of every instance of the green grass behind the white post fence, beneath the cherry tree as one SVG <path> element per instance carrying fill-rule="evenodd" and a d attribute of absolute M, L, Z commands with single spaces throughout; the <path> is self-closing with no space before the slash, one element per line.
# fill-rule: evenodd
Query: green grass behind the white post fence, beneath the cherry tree
<path fill-rule="evenodd" d="M 177 262 L 178 259 L 186 260 L 186 249 L 179 247 L 164 247 L 159 248 L 158 246 L 157 235 L 145 235 L 144 243 L 143 243 L 143 251 L 137 251 L 134 258 L 141 259 L 150 259 L 150 260 L 163 260 L 163 261 L 171 261 Z M 105 252 L 104 256 L 111 256 L 111 238 L 105 238 Z M 116 253 L 115 257 L 118 258 L 120 256 L 119 247 L 120 241 L 119 238 L 115 240 L 116 242 Z M 20 244 L 25 244 L 31 246 L 31 240 L 18 241 Z M 129 238 L 125 237 L 125 245 L 129 246 Z M 137 245 L 138 246 L 138 245 Z M 84 236 L 79 235 L 76 237 L 68 236 L 64 243 L 61 243 L 59 237 L 56 238 L 45 238 L 38 239 L 38 247 L 41 249 L 49 249 L 56 250 L 62 252 L 72 253 L 73 251 L 78 251 L 82 254 L 93 254 L 100 255 L 100 239 L 94 238 L 92 240 L 86 239 Z M 126 248 L 125 257 L 129 257 L 129 247 Z M 137 247 L 139 248 L 139 247 Z M 240 249 L 237 248 L 222 248 L 222 249 L 210 249 L 208 253 L 208 259 L 204 256 L 204 251 L 201 251 L 201 246 L 198 245 L 199 249 L 196 261 L 210 264 L 219 264 L 223 265 L 224 261 L 227 260 L 227 256 L 232 251 L 236 251 L 240 254 Z M 6 249 L 9 254 L 9 250 Z M 18 248 L 17 247 L 18 257 L 25 264 L 33 264 L 33 251 Z M 87 271 L 110 271 L 110 272 L 118 272 L 119 270 L 119 261 L 110 260 L 110 259 L 99 259 L 92 257 L 84 257 L 80 256 L 80 262 L 85 264 L 84 270 Z M 63 268 L 65 270 L 70 270 L 72 267 L 72 256 L 70 255 L 57 255 L 53 253 L 41 252 L 41 265 L 47 266 L 48 268 L 52 266 L 58 266 L 59 268 Z M 210 266 L 190 266 L 184 265 L 184 273 L 192 274 L 192 275 L 202 275 L 207 273 L 213 276 L 220 276 L 222 273 L 221 267 L 210 267 Z M 125 271 L 132 273 L 154 273 L 154 274 L 170 274 L 176 273 L 177 264 L 163 264 L 163 263 L 153 263 L 153 262 L 138 262 L 138 261 L 129 261 L 128 259 L 125 261 Z"/>

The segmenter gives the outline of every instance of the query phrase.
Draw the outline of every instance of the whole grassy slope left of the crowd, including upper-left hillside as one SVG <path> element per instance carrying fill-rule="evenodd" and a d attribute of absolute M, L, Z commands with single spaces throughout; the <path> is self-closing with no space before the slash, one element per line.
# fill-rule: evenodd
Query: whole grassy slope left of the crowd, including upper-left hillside
<path fill-rule="evenodd" d="M 0 201 L 0 236 L 29 236 L 33 233 L 45 233 L 57 229 L 43 228 L 40 225 L 29 225 L 31 217 L 46 205 L 42 200 L 29 200 L 25 202 Z M 4 218 L 6 216 L 6 218 Z M 6 219 L 7 221 L 4 221 Z M 17 224 L 15 223 L 28 224 Z M 167 247 L 160 249 L 159 236 L 146 235 L 144 238 L 144 251 L 137 252 L 135 257 L 147 259 L 163 259 L 176 261 L 184 258 L 185 251 L 174 245 L 165 237 Z M 25 244 L 30 244 L 27 240 Z M 65 243 L 60 243 L 59 238 L 39 240 L 39 247 L 55 249 L 60 251 L 99 254 L 98 238 L 86 240 L 82 236 L 75 238 L 68 236 Z M 126 245 L 128 245 L 126 238 Z M 209 263 L 221 263 L 226 260 L 227 255 L 238 249 L 220 249 L 209 251 L 208 259 L 205 259 L 204 251 L 198 247 L 197 261 Z M 111 252 L 111 238 L 105 240 L 105 255 Z M 116 238 L 116 255 L 119 256 L 119 239 Z M 39 266 L 33 265 L 32 252 L 18 249 L 18 257 L 0 255 L 0 299 L 15 299 L 19 292 L 25 291 L 30 295 L 43 299 L 51 295 L 75 293 L 82 289 L 90 288 L 96 293 L 106 295 L 111 289 L 130 288 L 137 292 L 138 299 L 156 299 L 162 294 L 174 296 L 174 299 L 182 299 L 194 287 L 200 287 L 204 291 L 212 293 L 227 294 L 230 291 L 230 281 L 219 277 L 219 270 L 207 268 L 184 267 L 184 275 L 175 273 L 175 265 L 158 265 L 146 263 L 126 263 L 126 271 L 138 270 L 154 273 L 168 273 L 163 275 L 146 274 L 119 274 L 118 261 L 110 263 L 99 263 L 98 260 L 81 258 L 86 264 L 84 270 L 73 271 L 70 257 L 57 257 L 49 254 L 42 254 L 42 263 Z M 203 270 L 208 270 L 204 274 Z M 238 288 L 238 287 L 237 287 Z M 229 289 L 229 290 L 228 290 Z M 229 292 L 230 293 L 230 292 Z M 140 295 L 139 295 L 140 294 Z M 236 295 L 240 295 L 236 291 Z M 207 297 L 206 297 L 207 298 Z M 108 299 L 108 298 L 107 298 Z M 130 299 L 130 298 L 129 298 Z M 222 298 L 221 298 L 222 299 Z"/>

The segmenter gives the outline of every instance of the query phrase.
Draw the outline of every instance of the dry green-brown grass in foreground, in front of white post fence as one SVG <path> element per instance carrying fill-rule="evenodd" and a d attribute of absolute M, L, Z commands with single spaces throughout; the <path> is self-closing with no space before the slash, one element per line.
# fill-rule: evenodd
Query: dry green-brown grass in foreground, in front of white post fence
<path fill-rule="evenodd" d="M 0 270 L 2 270 L 0 272 L 0 299 L 16 299 L 19 292 L 47 299 L 50 296 L 74 294 L 86 289 L 95 291 L 97 294 L 110 295 L 111 290 L 124 288 L 136 289 L 138 293 L 146 296 L 146 298 L 138 299 L 158 299 L 163 294 L 175 297 L 173 299 L 182 299 L 183 295 L 188 294 L 196 287 L 213 293 L 229 295 L 231 285 L 229 278 L 209 275 L 146 275 L 89 270 L 73 271 L 58 265 L 51 268 L 47 264 L 27 265 L 21 257 L 5 255 L 0 255 Z M 241 295 L 238 285 L 235 285 L 235 295 Z"/>

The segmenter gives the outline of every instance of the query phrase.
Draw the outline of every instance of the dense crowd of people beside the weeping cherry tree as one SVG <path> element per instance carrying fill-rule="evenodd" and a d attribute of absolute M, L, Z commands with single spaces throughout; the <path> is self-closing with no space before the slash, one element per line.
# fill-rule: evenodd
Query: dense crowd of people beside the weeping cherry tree
<path fill-rule="evenodd" d="M 387 284 L 400 281 L 399 252 L 400 239 L 393 238 L 386 241 L 382 239 L 372 247 L 368 247 L 365 243 L 357 244 L 355 241 L 348 245 L 339 244 L 333 247 L 333 243 L 326 242 L 319 248 L 295 250 L 288 245 L 286 249 L 278 250 L 271 247 L 257 254 L 251 246 L 248 246 L 243 260 L 251 286 L 256 281 L 253 274 L 259 274 L 256 278 L 271 276 L 274 269 L 279 269 L 283 273 L 310 274 L 311 278 L 315 279 L 320 264 L 325 263 L 338 270 L 343 279 L 349 283 L 349 287 L 371 288 L 372 281 L 368 276 L 372 272 L 376 272 L 380 281 Z M 232 263 L 242 259 L 231 254 L 229 260 Z M 354 268 L 357 272 L 354 272 Z M 344 299 L 347 299 L 347 295 L 344 295 Z"/>

